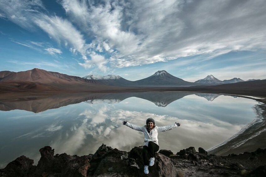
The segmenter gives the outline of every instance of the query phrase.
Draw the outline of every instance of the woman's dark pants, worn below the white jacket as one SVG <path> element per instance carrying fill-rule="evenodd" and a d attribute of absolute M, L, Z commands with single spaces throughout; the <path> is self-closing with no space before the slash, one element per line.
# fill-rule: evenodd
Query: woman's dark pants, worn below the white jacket
<path fill-rule="evenodd" d="M 152 141 L 149 141 L 148 146 L 143 146 L 142 150 L 142 157 L 144 165 L 149 166 L 149 160 L 150 158 L 155 158 L 155 153 L 159 150 L 159 146 L 156 143 L 153 143 Z"/>

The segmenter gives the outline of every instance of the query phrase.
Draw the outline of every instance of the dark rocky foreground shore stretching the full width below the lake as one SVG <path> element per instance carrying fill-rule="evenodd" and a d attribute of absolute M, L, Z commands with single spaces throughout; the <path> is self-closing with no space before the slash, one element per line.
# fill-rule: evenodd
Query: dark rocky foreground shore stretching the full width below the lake
<path fill-rule="evenodd" d="M 45 146 L 40 154 L 37 166 L 33 160 L 20 156 L 0 169 L 0 177 L 265 176 L 266 170 L 266 149 L 260 148 L 229 156 L 208 155 L 203 148 L 196 152 L 194 147 L 176 154 L 160 150 L 148 175 L 143 172 L 142 146 L 125 152 L 102 144 L 95 154 L 81 157 L 66 153 L 54 155 L 54 149 Z"/>

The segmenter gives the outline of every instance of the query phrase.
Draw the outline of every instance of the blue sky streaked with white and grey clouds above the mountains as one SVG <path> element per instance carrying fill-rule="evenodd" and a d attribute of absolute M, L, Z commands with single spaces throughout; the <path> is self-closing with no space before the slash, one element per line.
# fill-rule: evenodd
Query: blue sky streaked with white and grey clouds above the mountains
<path fill-rule="evenodd" d="M 0 0 L 0 71 L 266 79 L 264 0 Z"/>

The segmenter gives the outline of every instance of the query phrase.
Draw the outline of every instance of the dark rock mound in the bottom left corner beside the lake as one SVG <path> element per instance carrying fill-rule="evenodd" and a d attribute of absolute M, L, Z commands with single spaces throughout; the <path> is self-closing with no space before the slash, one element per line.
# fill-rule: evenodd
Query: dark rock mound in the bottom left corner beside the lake
<path fill-rule="evenodd" d="M 35 171 L 36 166 L 32 165 L 34 161 L 22 155 L 10 162 L 4 169 L 3 173 L 7 176 L 28 177 Z M 2 175 L 1 175 L 2 176 Z"/>

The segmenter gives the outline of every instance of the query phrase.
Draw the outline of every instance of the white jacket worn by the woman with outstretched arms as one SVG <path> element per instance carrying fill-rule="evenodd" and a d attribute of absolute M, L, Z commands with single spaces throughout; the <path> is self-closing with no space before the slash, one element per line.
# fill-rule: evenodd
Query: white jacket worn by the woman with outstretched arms
<path fill-rule="evenodd" d="M 167 125 L 164 127 L 155 126 L 152 129 L 152 131 L 150 133 L 148 133 L 145 126 L 137 126 L 137 125 L 133 125 L 129 122 L 126 122 L 125 125 L 134 129 L 134 130 L 137 130 L 137 131 L 144 133 L 144 146 L 148 146 L 149 141 L 152 141 L 152 142 L 156 143 L 157 145 L 159 145 L 159 143 L 158 143 L 158 133 L 159 132 L 165 132 L 165 131 L 171 130 L 172 128 L 178 127 L 176 123 L 173 125 Z"/>

